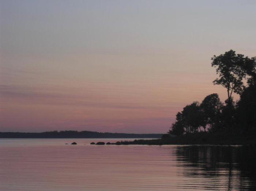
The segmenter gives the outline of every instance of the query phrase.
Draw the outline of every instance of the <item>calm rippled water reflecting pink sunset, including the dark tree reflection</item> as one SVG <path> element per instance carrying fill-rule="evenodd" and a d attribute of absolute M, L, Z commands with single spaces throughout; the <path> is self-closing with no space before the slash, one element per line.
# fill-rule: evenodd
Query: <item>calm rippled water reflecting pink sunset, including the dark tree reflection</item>
<path fill-rule="evenodd" d="M 256 189 L 255 147 L 89 144 L 118 140 L 0 139 L 0 190 Z"/>

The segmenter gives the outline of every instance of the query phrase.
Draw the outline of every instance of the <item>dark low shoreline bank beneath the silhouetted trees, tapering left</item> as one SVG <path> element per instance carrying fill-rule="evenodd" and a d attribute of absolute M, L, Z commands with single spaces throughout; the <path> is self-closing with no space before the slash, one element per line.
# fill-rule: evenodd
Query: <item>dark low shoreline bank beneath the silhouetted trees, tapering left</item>
<path fill-rule="evenodd" d="M 238 136 L 226 133 L 197 133 L 170 137 L 165 134 L 162 139 L 121 141 L 122 145 L 254 145 L 256 138 L 252 135 Z"/>

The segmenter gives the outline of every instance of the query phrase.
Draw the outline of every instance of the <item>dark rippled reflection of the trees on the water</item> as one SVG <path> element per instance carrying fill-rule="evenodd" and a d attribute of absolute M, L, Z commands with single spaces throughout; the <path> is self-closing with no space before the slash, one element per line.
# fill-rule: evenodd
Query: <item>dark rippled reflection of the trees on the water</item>
<path fill-rule="evenodd" d="M 207 180 L 207 189 L 256 188 L 255 146 L 180 146 L 176 155 L 182 174 Z"/>

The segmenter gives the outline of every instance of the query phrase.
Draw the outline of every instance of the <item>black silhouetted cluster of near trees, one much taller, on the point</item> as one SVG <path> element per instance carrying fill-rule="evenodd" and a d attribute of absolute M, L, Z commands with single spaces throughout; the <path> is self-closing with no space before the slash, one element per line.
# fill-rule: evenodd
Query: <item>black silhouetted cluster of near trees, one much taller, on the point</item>
<path fill-rule="evenodd" d="M 176 114 L 170 127 L 172 135 L 223 134 L 238 136 L 256 135 L 256 57 L 249 58 L 230 50 L 211 58 L 211 66 L 219 77 L 214 85 L 227 91 L 221 102 L 216 93 L 207 95 L 200 103 L 195 101 Z M 233 100 L 236 93 L 240 99 Z"/>

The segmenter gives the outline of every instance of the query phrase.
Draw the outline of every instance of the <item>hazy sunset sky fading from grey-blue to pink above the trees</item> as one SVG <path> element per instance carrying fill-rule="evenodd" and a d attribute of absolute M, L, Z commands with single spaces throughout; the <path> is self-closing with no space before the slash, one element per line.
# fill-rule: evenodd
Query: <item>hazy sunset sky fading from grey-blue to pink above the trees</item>
<path fill-rule="evenodd" d="M 0 0 L 0 131 L 165 133 L 255 34 L 255 0 Z"/>

